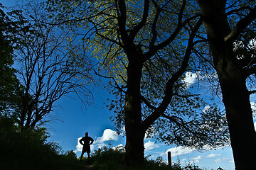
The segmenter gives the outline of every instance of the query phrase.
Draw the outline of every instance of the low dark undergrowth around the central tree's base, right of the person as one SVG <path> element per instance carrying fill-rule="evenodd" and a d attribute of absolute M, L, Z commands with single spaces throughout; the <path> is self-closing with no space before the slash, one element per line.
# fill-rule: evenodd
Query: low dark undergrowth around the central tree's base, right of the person
<path fill-rule="evenodd" d="M 132 170 L 123 165 L 124 149 L 117 148 L 112 149 L 110 147 L 102 147 L 92 153 L 90 162 L 97 170 Z M 144 165 L 138 166 L 136 170 L 201 170 L 198 166 L 193 164 L 181 165 L 180 162 L 174 163 L 172 168 L 164 162 L 162 157 L 156 158 L 156 160 L 145 158 Z M 135 169 L 134 169 L 135 170 Z"/>

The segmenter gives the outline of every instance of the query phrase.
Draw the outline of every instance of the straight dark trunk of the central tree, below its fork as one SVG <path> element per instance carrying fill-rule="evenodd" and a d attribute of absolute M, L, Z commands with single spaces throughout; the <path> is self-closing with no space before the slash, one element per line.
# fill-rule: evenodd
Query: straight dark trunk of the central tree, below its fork
<path fill-rule="evenodd" d="M 144 162 L 144 130 L 142 129 L 142 106 L 140 82 L 142 62 L 129 61 L 127 68 L 127 94 L 125 96 L 126 146 L 124 164 L 137 166 Z"/>

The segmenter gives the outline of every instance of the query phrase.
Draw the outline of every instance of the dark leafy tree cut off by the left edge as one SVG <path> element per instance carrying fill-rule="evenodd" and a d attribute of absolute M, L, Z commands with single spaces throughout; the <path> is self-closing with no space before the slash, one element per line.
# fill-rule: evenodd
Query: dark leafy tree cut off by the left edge
<path fill-rule="evenodd" d="M 17 19 L 18 18 L 18 19 Z M 18 108 L 19 98 L 16 95 L 16 79 L 13 52 L 20 43 L 16 35 L 24 31 L 25 19 L 20 11 L 5 13 L 4 6 L 0 4 L 0 111 L 2 116 L 11 116 Z"/>

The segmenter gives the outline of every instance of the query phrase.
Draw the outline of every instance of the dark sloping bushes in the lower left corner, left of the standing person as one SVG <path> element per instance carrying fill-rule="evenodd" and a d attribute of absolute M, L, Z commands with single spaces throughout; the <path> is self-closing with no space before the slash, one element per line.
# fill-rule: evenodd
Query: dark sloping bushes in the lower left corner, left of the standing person
<path fill-rule="evenodd" d="M 60 147 L 47 142 L 45 128 L 21 130 L 11 118 L 0 118 L 1 169 L 83 169 L 74 152 L 61 154 Z"/>

